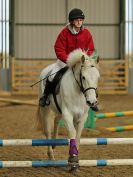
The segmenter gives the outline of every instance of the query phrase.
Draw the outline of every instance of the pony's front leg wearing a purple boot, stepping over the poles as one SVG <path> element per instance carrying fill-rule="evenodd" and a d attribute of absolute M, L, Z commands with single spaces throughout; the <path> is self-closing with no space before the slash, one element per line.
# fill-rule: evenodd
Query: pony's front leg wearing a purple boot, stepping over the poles
<path fill-rule="evenodd" d="M 70 138 L 68 162 L 71 166 L 71 171 L 75 171 L 79 168 L 79 163 L 78 163 L 79 160 L 78 160 L 78 148 L 77 148 L 77 141 L 76 141 L 76 130 L 73 125 L 73 116 L 67 112 L 67 114 L 63 116 L 63 119 Z"/>

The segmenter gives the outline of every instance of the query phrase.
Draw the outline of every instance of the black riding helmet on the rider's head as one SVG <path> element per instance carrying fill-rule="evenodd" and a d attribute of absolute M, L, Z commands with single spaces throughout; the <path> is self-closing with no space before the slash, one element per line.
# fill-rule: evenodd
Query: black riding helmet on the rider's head
<path fill-rule="evenodd" d="M 69 12 L 69 22 L 71 22 L 72 20 L 74 19 L 77 19 L 77 18 L 81 18 L 81 19 L 85 19 L 85 15 L 83 13 L 83 11 L 81 9 L 72 9 L 70 12 Z"/>

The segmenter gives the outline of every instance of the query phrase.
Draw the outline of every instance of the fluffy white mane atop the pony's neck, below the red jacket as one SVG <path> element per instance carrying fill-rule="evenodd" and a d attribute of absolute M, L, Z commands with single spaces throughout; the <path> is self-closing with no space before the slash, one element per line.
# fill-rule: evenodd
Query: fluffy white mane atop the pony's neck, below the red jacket
<path fill-rule="evenodd" d="M 89 56 L 85 52 L 83 52 L 81 49 L 74 50 L 68 55 L 67 65 L 69 67 L 74 66 L 76 63 L 81 61 L 81 57 L 83 55 L 85 56 L 86 59 L 89 59 Z"/>

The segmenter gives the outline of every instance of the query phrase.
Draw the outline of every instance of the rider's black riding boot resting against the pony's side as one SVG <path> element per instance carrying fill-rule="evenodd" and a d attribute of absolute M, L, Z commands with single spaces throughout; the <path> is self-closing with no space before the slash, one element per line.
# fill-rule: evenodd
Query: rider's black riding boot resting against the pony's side
<path fill-rule="evenodd" d="M 49 94 L 50 93 L 51 93 L 51 82 L 47 79 L 46 80 L 46 85 L 45 85 L 45 88 L 44 88 L 44 93 L 39 100 L 39 105 L 41 107 L 44 107 L 44 106 L 50 104 L 50 100 L 49 100 Z"/>

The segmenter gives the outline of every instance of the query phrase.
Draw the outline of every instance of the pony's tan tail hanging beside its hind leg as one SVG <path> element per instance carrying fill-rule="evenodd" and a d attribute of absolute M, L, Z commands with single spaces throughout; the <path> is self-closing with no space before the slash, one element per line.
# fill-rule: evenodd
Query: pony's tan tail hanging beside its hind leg
<path fill-rule="evenodd" d="M 38 106 L 37 112 L 36 112 L 36 121 L 35 121 L 35 129 L 38 131 L 43 131 L 43 123 L 42 123 L 42 118 L 41 118 L 41 108 Z"/>

